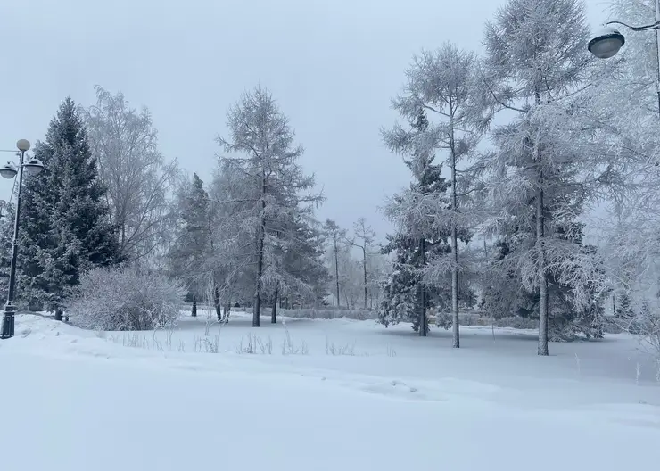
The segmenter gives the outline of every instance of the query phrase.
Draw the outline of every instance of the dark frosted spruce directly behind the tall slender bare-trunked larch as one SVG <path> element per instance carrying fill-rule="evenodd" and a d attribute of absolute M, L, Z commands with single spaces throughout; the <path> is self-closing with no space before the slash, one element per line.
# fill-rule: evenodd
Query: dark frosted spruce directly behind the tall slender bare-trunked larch
<path fill-rule="evenodd" d="M 428 283 L 424 274 L 432 260 L 441 260 L 451 250 L 450 225 L 442 219 L 451 207 L 447 194 L 450 184 L 441 176 L 441 165 L 434 163 L 434 147 L 429 147 L 425 140 L 429 121 L 424 109 L 420 108 L 411 119 L 410 128 L 406 131 L 397 127 L 391 134 L 385 133 L 386 142 L 392 138 L 397 139 L 395 143 L 409 141 L 409 146 L 399 152 L 415 181 L 405 192 L 394 195 L 385 207 L 397 232 L 388 237 L 384 247 L 384 253 L 394 253 L 395 260 L 392 275 L 384 285 L 379 317 L 385 325 L 402 320 L 412 322 L 420 335 L 426 335 L 426 310 L 446 308 L 447 280 L 435 277 L 433 283 Z M 457 236 L 467 241 L 466 231 Z"/>

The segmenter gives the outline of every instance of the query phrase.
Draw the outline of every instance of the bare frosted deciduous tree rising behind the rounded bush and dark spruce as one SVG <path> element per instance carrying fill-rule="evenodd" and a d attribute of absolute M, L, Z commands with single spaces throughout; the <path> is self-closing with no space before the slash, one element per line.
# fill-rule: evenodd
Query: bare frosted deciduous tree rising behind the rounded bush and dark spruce
<path fill-rule="evenodd" d="M 163 158 L 151 113 L 132 108 L 122 93 L 96 87 L 85 117 L 122 256 L 144 261 L 169 233 L 177 161 Z"/>

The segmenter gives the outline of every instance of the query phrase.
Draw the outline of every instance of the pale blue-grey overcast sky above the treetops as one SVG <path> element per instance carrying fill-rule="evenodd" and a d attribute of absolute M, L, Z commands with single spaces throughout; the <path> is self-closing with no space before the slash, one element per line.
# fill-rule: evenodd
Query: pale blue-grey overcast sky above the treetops
<path fill-rule="evenodd" d="M 0 149 L 42 139 L 62 99 L 94 86 L 146 105 L 161 151 L 209 180 L 227 107 L 268 87 L 305 146 L 302 165 L 326 194 L 320 219 L 379 238 L 378 207 L 409 181 L 379 129 L 413 54 L 444 41 L 479 53 L 504 0 L 2 0 Z M 587 1 L 598 27 L 606 0 Z M 586 45 L 585 45 L 586 47 Z M 4 161 L 10 153 L 0 153 Z M 0 183 L 9 199 L 11 183 Z"/>

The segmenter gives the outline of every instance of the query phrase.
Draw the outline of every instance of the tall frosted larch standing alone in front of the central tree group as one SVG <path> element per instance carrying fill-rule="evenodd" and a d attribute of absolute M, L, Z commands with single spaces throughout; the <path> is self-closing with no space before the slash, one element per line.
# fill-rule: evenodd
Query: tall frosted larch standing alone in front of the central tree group
<path fill-rule="evenodd" d="M 256 87 L 243 94 L 227 112 L 229 136 L 219 144 L 231 157 L 223 164 L 243 174 L 245 189 L 251 192 L 241 211 L 233 217 L 243 233 L 255 243 L 254 311 L 252 326 L 260 326 L 262 294 L 268 286 L 291 284 L 278 260 L 281 244 L 295 234 L 287 222 L 309 217 L 322 196 L 314 192 L 314 177 L 305 175 L 299 160 L 303 148 L 294 145 L 293 129 L 267 89 Z M 296 278 L 301 288 L 304 283 Z"/>

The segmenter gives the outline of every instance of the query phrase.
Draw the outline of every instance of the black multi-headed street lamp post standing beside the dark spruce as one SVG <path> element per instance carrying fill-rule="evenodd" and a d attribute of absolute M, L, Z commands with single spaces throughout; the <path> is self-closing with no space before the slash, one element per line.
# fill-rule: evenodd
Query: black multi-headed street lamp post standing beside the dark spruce
<path fill-rule="evenodd" d="M 28 175 L 37 175 L 44 169 L 44 164 L 38 159 L 30 159 L 25 161 L 25 153 L 29 151 L 29 141 L 26 139 L 19 139 L 16 147 L 20 152 L 20 161 L 18 169 L 12 161 L 8 161 L 6 165 L 0 167 L 0 176 L 3 178 L 14 178 L 16 174 L 19 176 L 19 187 L 16 191 L 16 213 L 13 221 L 13 239 L 12 239 L 12 265 L 9 269 L 9 293 L 7 294 L 7 303 L 4 305 L 3 325 L 0 331 L 0 339 L 12 338 L 14 332 L 14 315 L 16 314 L 16 305 L 14 304 L 14 292 L 16 290 L 16 259 L 18 258 L 18 244 L 19 244 L 19 224 L 21 222 L 21 186 L 23 185 L 23 169 L 28 172 Z"/>

